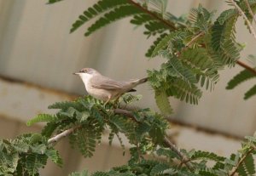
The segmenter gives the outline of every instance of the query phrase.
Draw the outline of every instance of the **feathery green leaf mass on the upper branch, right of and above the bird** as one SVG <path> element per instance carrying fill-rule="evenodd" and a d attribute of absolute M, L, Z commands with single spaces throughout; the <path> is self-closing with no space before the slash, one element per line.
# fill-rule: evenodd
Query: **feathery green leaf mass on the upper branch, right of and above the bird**
<path fill-rule="evenodd" d="M 256 1 L 248 2 L 254 12 Z M 236 3 L 249 20 L 253 20 L 244 1 Z M 100 0 L 79 15 L 71 32 L 94 21 L 84 33 L 89 36 L 126 17 L 131 18 L 132 25 L 143 26 L 144 35 L 156 38 L 146 56 L 163 59 L 159 70 L 148 70 L 148 81 L 160 111 L 170 114 L 172 107 L 168 98 L 197 105 L 202 88 L 213 90 L 219 79 L 218 72 L 225 66 L 235 66 L 240 59 L 242 46 L 236 42 L 236 21 L 240 14 L 233 6 L 217 19 L 214 14 L 199 5 L 191 9 L 189 16 L 176 17 L 166 11 L 166 1 L 163 0 Z M 249 89 L 245 99 L 256 94 L 255 89 L 255 86 Z"/>

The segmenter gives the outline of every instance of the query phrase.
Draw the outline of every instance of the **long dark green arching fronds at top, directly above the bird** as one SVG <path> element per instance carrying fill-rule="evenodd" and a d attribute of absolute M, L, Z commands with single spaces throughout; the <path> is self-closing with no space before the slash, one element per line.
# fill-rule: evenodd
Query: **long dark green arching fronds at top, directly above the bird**
<path fill-rule="evenodd" d="M 159 14 L 156 14 L 159 15 Z M 154 36 L 168 30 L 168 27 L 156 20 L 141 9 L 138 9 L 134 4 L 127 0 L 101 0 L 95 3 L 92 7 L 79 15 L 79 19 L 73 23 L 71 32 L 76 31 L 80 26 L 83 26 L 89 20 L 100 16 L 96 21 L 88 27 L 85 36 L 89 36 L 94 31 L 107 26 L 113 21 L 123 19 L 128 16 L 133 16 L 131 24 L 142 26 L 146 28 L 144 34 L 148 37 Z"/>

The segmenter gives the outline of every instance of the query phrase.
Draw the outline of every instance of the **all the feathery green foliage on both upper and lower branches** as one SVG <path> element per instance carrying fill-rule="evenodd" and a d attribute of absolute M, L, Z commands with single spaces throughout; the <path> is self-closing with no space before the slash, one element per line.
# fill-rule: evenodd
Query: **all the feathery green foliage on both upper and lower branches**
<path fill-rule="evenodd" d="M 236 9 L 225 10 L 214 21 L 214 13 L 201 5 L 191 10 L 189 18 L 175 17 L 166 12 L 166 2 L 100 0 L 79 16 L 71 32 L 95 19 L 85 32 L 85 36 L 89 36 L 103 26 L 130 16 L 131 24 L 145 28 L 143 34 L 147 37 L 155 36 L 146 56 L 160 56 L 164 61 L 159 70 L 148 71 L 148 81 L 155 91 L 160 111 L 168 115 L 172 113 L 170 97 L 198 104 L 202 95 L 201 88 L 212 90 L 218 82 L 218 71 L 226 65 L 231 67 L 236 64 L 240 58 L 241 45 L 236 43 L 235 26 L 240 15 Z M 248 2 L 255 13 L 256 1 Z M 236 3 L 245 11 L 249 20 L 253 20 L 244 1 Z M 229 82 L 227 88 L 235 88 L 239 83 L 255 77 L 252 74 L 241 71 Z M 254 94 L 256 86 L 247 91 L 245 99 Z M 69 133 L 71 145 L 77 147 L 83 156 L 93 156 L 106 128 L 110 131 L 109 144 L 117 138 L 124 150 L 120 134 L 125 135 L 131 144 L 131 159 L 126 165 L 113 167 L 108 172 L 92 173 L 94 176 L 255 175 L 255 135 L 247 136 L 241 150 L 230 157 L 201 150 L 173 150 L 173 146 L 166 143 L 168 122 L 163 116 L 150 109 L 125 110 L 126 105 L 139 99 L 138 96 L 125 94 L 121 102 L 104 105 L 101 100 L 85 96 L 49 105 L 49 109 L 58 109 L 55 115 L 40 114 L 27 122 L 28 126 L 36 122 L 47 122 L 41 134 L 28 133 L 13 140 L 0 140 L 0 175 L 39 175 L 38 169 L 44 167 L 48 159 L 61 166 L 61 157 L 49 139 L 67 129 L 73 132 Z M 154 160 L 146 160 L 146 155 L 155 156 L 152 157 Z M 71 173 L 71 176 L 79 175 L 87 176 L 89 173 Z"/>

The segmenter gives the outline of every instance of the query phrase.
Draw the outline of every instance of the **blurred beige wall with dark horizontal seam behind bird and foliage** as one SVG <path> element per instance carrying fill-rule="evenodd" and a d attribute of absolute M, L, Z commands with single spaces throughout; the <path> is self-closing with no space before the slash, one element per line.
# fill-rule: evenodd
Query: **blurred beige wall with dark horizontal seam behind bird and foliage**
<path fill-rule="evenodd" d="M 74 71 L 92 67 L 108 77 L 129 80 L 145 77 L 147 69 L 159 67 L 161 59 L 148 60 L 144 56 L 154 38 L 146 39 L 143 28 L 135 29 L 129 19 L 115 22 L 90 37 L 84 37 L 85 26 L 69 34 L 79 14 L 95 2 L 65 0 L 47 5 L 46 0 L 0 0 L 0 138 L 39 132 L 40 125 L 28 128 L 26 121 L 38 113 L 53 113 L 47 106 L 55 101 L 86 94 L 79 77 L 73 76 Z M 207 9 L 217 9 L 217 15 L 228 8 L 222 0 L 169 0 L 168 9 L 179 16 L 188 14 L 199 3 Z M 237 39 L 247 45 L 241 60 L 247 54 L 256 54 L 256 42 L 242 20 L 236 31 Z M 175 114 L 169 117 L 169 134 L 178 147 L 228 156 L 239 149 L 243 136 L 254 133 L 256 99 L 243 100 L 253 82 L 225 90 L 227 82 L 241 70 L 237 65 L 222 71 L 214 92 L 205 92 L 199 105 L 170 99 Z M 147 84 L 137 88 L 137 94 L 143 95 L 137 105 L 158 111 L 152 93 Z M 61 150 L 64 167 L 49 163 L 42 175 L 67 175 L 85 167 L 90 171 L 106 170 L 129 159 L 127 153 L 122 156 L 118 142 L 108 146 L 107 135 L 104 141 L 93 158 L 84 159 L 70 149 L 66 139 L 62 140 L 56 147 Z"/>

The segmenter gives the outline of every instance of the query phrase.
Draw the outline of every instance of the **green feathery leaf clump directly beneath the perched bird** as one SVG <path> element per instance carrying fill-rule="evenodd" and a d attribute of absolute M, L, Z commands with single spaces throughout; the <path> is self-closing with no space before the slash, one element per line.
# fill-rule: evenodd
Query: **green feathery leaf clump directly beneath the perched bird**
<path fill-rule="evenodd" d="M 139 96 L 131 94 L 125 94 L 122 97 L 125 104 L 130 104 L 138 99 L 140 99 Z M 42 131 L 47 138 L 54 133 L 76 128 L 69 135 L 70 143 L 73 147 L 78 147 L 84 157 L 93 156 L 96 145 L 101 142 L 102 133 L 107 127 L 110 128 L 110 144 L 113 137 L 117 136 L 120 145 L 124 147 L 122 139 L 119 137 L 119 133 L 124 133 L 132 145 L 137 145 L 136 152 L 139 153 L 154 150 L 153 144 L 162 142 L 167 128 L 167 122 L 162 116 L 143 109 L 131 111 L 135 118 L 132 119 L 127 118 L 125 113 L 115 112 L 113 107 L 114 105 L 111 104 L 104 106 L 102 101 L 86 96 L 72 102 L 66 101 L 49 105 L 50 109 L 59 109 L 54 118 L 51 115 L 38 115 L 28 123 L 48 122 Z M 138 159 L 139 157 L 133 161 L 136 162 Z"/>

